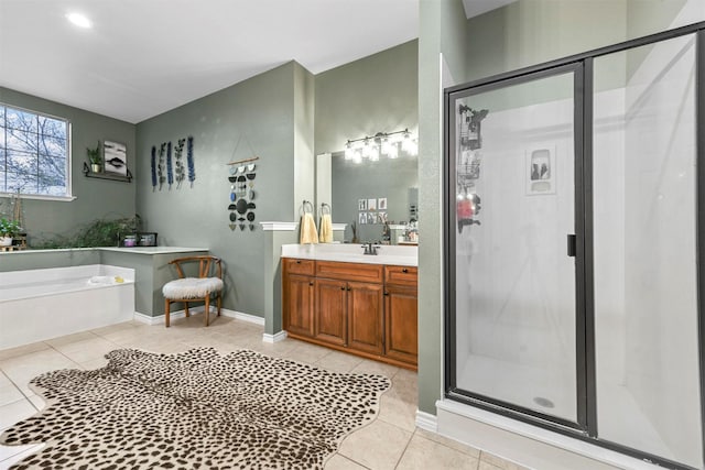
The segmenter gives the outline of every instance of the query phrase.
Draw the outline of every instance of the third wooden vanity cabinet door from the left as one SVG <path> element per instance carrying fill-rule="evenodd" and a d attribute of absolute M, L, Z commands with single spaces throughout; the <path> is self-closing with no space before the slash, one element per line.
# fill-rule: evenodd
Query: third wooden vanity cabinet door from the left
<path fill-rule="evenodd" d="M 382 285 L 348 283 L 348 347 L 382 354 Z"/>

